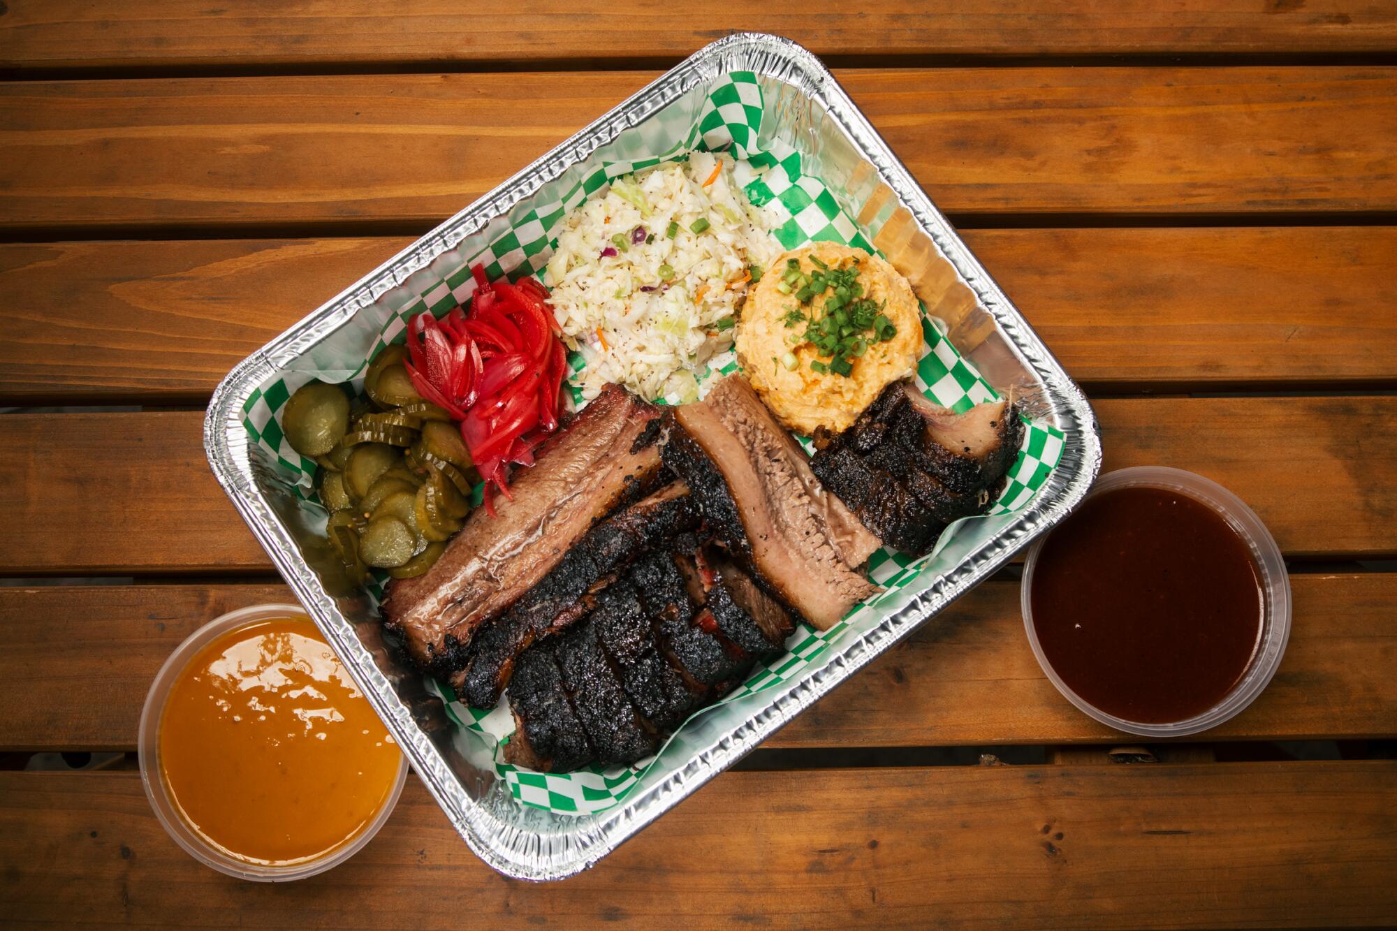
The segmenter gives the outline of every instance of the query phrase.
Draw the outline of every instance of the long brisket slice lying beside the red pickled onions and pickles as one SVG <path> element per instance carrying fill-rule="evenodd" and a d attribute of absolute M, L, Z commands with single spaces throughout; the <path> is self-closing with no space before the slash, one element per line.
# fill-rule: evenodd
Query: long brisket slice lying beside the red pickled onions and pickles
<path fill-rule="evenodd" d="M 402 633 L 409 656 L 439 675 L 461 668 L 481 623 L 535 586 L 594 521 L 650 491 L 662 468 L 658 415 L 608 386 L 520 470 L 496 517 L 476 509 L 426 573 L 390 582 L 384 623 Z"/>

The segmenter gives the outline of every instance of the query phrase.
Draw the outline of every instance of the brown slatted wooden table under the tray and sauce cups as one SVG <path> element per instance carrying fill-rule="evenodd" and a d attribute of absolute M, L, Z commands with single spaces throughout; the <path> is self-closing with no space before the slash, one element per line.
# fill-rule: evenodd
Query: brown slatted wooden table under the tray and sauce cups
<path fill-rule="evenodd" d="M 6 920 L 1397 917 L 1397 6 L 395 6 L 0 3 Z M 1006 572 L 567 882 L 493 874 L 415 780 L 312 881 L 196 864 L 134 770 L 145 689 L 208 618 L 288 597 L 208 472 L 210 391 L 736 28 L 835 67 L 1085 386 L 1108 470 L 1199 471 L 1260 513 L 1295 593 L 1275 681 L 1112 763 L 1139 741 L 1053 691 Z M 38 751 L 124 756 L 21 772 Z"/>

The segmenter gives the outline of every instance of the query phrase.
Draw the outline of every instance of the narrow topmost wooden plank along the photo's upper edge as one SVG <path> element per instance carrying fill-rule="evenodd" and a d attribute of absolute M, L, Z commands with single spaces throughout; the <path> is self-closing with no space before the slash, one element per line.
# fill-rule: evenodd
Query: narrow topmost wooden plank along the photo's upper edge
<path fill-rule="evenodd" d="M 0 67 L 440 66 L 500 60 L 679 59 L 736 29 L 785 35 L 817 55 L 1129 55 L 1380 52 L 1397 49 L 1397 15 L 1347 0 L 1224 0 L 1165 7 L 1060 6 L 960 0 L 861 4 L 828 0 L 705 8 L 701 17 L 644 3 L 624 20 L 576 3 L 527 7 L 450 0 L 386 8 L 339 3 L 197 0 L 123 4 L 8 0 Z"/>

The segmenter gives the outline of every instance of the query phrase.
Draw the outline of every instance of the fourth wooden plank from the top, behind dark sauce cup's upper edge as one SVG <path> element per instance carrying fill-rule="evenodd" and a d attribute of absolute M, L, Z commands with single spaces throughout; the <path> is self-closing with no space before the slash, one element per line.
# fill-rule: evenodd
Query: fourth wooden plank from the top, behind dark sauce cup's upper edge
<path fill-rule="evenodd" d="M 1106 400 L 1104 471 L 1231 488 L 1296 556 L 1397 554 L 1394 397 Z M 204 457 L 198 412 L 0 418 L 0 572 L 265 570 Z"/>

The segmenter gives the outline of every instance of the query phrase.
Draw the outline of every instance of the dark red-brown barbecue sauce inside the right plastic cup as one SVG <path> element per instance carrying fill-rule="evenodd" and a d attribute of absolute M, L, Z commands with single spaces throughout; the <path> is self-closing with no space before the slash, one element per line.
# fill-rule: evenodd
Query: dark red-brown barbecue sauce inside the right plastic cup
<path fill-rule="evenodd" d="M 1246 541 L 1207 505 L 1162 488 L 1083 503 L 1038 554 L 1031 598 L 1053 671 L 1106 714 L 1144 724 L 1222 700 L 1264 619 Z"/>

